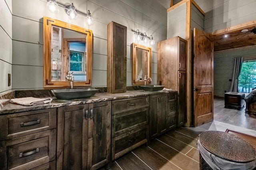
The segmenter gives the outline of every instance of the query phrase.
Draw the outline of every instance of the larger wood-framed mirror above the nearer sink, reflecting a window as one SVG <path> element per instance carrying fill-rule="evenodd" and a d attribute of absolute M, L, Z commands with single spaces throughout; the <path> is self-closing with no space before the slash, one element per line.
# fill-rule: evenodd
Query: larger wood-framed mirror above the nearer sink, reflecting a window
<path fill-rule="evenodd" d="M 92 85 L 92 31 L 44 16 L 44 87 Z"/>

